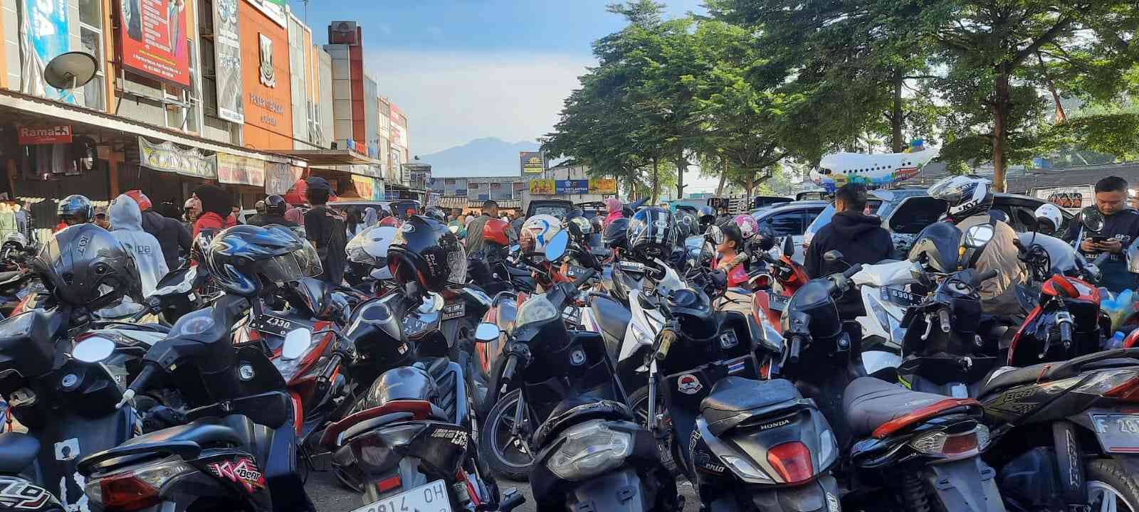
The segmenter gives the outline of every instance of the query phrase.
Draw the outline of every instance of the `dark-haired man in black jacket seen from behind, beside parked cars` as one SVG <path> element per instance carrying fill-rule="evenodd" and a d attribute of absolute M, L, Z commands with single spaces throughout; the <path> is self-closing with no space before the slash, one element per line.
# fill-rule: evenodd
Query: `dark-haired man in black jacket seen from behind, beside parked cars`
<path fill-rule="evenodd" d="M 855 263 L 872 264 L 893 257 L 894 243 L 890 231 L 882 226 L 882 218 L 866 215 L 866 188 L 846 184 L 835 193 L 835 216 L 822 226 L 806 248 L 803 263 L 811 279 L 843 272 Z M 829 250 L 843 254 L 841 262 L 827 263 L 822 255 Z M 857 292 L 846 294 L 838 302 L 838 313 L 852 320 L 866 314 Z"/>

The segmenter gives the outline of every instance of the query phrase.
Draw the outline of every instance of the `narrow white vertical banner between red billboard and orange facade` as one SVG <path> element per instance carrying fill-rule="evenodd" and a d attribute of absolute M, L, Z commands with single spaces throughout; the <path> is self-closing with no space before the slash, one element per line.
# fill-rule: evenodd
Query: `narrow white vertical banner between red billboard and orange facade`
<path fill-rule="evenodd" d="M 214 72 L 218 81 L 218 117 L 245 123 L 241 102 L 241 32 L 237 25 L 237 2 L 214 2 Z"/>

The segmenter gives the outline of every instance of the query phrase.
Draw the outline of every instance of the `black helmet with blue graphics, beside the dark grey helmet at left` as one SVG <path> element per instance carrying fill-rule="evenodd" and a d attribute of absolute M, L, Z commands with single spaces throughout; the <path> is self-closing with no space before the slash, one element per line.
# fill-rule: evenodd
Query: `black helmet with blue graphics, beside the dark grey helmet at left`
<path fill-rule="evenodd" d="M 227 292 L 255 297 L 268 283 L 318 275 L 320 258 L 312 246 L 279 225 L 236 225 L 222 230 L 205 248 L 205 267 Z"/>

